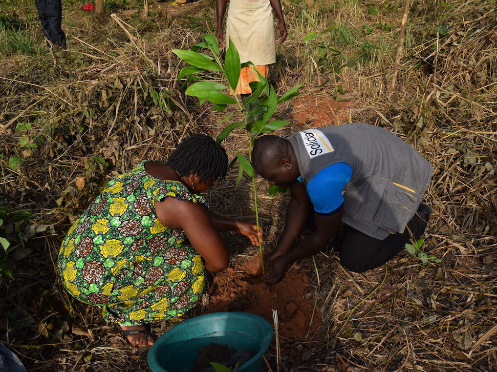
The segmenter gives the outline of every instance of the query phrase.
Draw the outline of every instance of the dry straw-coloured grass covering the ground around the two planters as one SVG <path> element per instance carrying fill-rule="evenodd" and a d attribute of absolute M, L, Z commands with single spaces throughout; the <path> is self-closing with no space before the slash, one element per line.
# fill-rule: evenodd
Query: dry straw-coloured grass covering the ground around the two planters
<path fill-rule="evenodd" d="M 414 1 L 392 91 L 399 5 L 284 1 L 291 35 L 279 47 L 274 81 L 281 90 L 305 81 L 303 95 L 327 97 L 340 85 L 345 92 L 338 99 L 351 99 L 349 121 L 391 128 L 430 160 L 426 200 L 434 213 L 424 249 L 443 261 L 423 268 L 402 253 L 365 274 L 346 272 L 334 254 L 299 263 L 312 279 L 313 316 L 322 316 L 323 326 L 311 335 L 317 343 L 295 340 L 299 357 L 281 356 L 279 371 L 495 370 L 496 10 L 488 1 Z M 70 221 L 115 172 L 144 158 L 166 158 L 190 133 L 222 129 L 217 120 L 225 113 L 180 92 L 179 62 L 170 52 L 198 42 L 204 29 L 213 29 L 212 19 L 169 19 L 156 6 L 150 12 L 148 19 L 118 12 L 121 25 L 66 13 L 80 19 L 68 25 L 70 50 L 0 61 L 0 190 L 10 209 L 30 210 L 35 223 L 53 226 L 46 238 L 30 241 L 33 252 L 17 262 L 15 279 L 0 279 L 6 298 L 0 311 L 8 319 L 0 328 L 9 328 L 3 341 L 29 371 L 146 370 L 144 355 L 61 289 L 52 261 Z M 439 24 L 446 35 L 436 32 Z M 321 39 L 302 42 L 314 31 Z M 162 106 L 152 91 L 164 93 Z M 289 107 L 278 116 L 287 118 Z M 32 128 L 17 131 L 19 122 Z M 21 148 L 21 137 L 38 149 Z M 246 135 L 234 132 L 226 147 L 230 156 L 246 150 Z M 23 158 L 15 171 L 6 165 L 14 156 Z M 85 179 L 81 190 L 77 177 Z M 250 188 L 244 181 L 235 188 L 235 178 L 233 170 L 207 197 L 214 210 L 250 221 Z M 284 223 L 286 197 L 264 197 L 265 189 L 261 180 L 270 248 Z M 235 252 L 255 254 L 238 236 L 225 236 Z M 23 316 L 34 322 L 21 329 L 9 323 Z M 272 371 L 275 357 L 266 355 Z"/>

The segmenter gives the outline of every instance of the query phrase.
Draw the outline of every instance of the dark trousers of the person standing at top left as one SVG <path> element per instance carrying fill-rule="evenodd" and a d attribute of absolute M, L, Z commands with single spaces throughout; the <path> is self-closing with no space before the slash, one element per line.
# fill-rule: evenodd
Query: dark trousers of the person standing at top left
<path fill-rule="evenodd" d="M 48 40 L 57 47 L 66 46 L 66 34 L 62 31 L 62 0 L 35 0 L 41 28 Z M 50 44 L 47 42 L 47 45 Z"/>

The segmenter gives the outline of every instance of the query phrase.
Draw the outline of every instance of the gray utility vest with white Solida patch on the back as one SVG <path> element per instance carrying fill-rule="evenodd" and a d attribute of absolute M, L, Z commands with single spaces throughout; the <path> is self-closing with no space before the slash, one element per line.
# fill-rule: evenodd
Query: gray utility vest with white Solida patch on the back
<path fill-rule="evenodd" d="M 333 163 L 352 167 L 352 178 L 343 188 L 342 221 L 377 239 L 404 232 L 430 182 L 431 164 L 399 137 L 374 125 L 308 129 L 288 140 L 306 185 Z"/>

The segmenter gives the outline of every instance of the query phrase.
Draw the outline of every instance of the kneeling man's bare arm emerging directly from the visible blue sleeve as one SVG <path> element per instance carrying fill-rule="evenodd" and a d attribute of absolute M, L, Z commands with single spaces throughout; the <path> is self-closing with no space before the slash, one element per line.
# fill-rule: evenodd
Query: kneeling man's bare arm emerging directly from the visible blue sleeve
<path fill-rule="evenodd" d="M 320 216 L 315 214 L 316 230 L 311 235 L 302 240 L 299 244 L 280 257 L 271 261 L 269 272 L 266 275 L 268 284 L 276 284 L 286 273 L 289 265 L 302 258 L 312 256 L 336 237 L 338 226 L 341 222 L 343 209 L 331 216 Z"/>

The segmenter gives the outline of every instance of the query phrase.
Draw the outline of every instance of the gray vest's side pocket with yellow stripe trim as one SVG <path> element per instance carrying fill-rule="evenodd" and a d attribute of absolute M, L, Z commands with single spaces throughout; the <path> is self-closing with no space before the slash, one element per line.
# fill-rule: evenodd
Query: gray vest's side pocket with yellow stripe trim
<path fill-rule="evenodd" d="M 412 187 L 382 177 L 372 184 L 368 199 L 378 202 L 371 202 L 372 208 L 365 209 L 363 220 L 392 233 L 404 232 L 417 205 L 417 194 Z"/>

